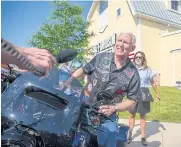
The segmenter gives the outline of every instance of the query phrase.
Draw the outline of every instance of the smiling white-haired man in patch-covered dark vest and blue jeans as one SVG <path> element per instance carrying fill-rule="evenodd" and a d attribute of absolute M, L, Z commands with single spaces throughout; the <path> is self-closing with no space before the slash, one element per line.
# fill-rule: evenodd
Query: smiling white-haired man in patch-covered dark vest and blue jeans
<path fill-rule="evenodd" d="M 135 49 L 135 43 L 136 39 L 132 33 L 120 33 L 114 46 L 114 53 L 97 54 L 72 75 L 72 79 L 82 77 L 84 74 L 90 76 L 86 85 L 89 94 L 87 103 L 93 104 L 98 101 L 96 96 L 101 91 L 106 91 L 113 97 L 110 104 L 99 107 L 100 113 L 113 120 L 104 120 L 99 126 L 99 129 L 104 131 L 97 130 L 100 147 L 116 147 L 116 112 L 130 110 L 138 100 L 140 78 L 136 67 L 129 59 L 129 53 Z M 125 95 L 128 100 L 122 102 Z"/>

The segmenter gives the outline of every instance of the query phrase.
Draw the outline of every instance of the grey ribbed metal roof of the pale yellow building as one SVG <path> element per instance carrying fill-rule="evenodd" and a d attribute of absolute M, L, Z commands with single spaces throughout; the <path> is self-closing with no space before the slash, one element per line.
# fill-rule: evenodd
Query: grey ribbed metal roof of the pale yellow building
<path fill-rule="evenodd" d="M 134 13 L 142 13 L 181 26 L 181 14 L 166 8 L 164 1 L 130 0 Z"/>

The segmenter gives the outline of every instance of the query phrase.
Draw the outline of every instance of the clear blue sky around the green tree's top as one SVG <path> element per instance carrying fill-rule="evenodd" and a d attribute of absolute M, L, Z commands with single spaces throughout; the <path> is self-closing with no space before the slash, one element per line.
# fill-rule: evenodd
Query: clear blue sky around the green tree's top
<path fill-rule="evenodd" d="M 92 2 L 89 0 L 71 3 L 84 7 L 83 17 L 86 19 Z M 51 1 L 2 1 L 1 36 L 15 45 L 25 47 L 51 12 Z"/>

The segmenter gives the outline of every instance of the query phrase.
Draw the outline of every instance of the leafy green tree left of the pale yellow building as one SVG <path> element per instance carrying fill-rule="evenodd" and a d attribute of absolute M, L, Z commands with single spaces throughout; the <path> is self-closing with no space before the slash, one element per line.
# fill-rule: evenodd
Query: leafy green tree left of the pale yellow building
<path fill-rule="evenodd" d="M 82 17 L 83 8 L 70 5 L 67 1 L 54 1 L 50 18 L 32 36 L 29 46 L 46 48 L 53 55 L 63 49 L 79 50 L 78 60 L 82 60 L 93 34 L 88 32 L 89 22 Z"/>

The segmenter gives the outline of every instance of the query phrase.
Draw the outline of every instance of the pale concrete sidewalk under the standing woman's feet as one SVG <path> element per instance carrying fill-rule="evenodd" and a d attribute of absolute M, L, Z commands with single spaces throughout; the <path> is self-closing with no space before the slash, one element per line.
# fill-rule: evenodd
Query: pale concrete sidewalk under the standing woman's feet
<path fill-rule="evenodd" d="M 120 119 L 119 122 L 128 124 L 128 120 Z M 181 147 L 181 123 L 163 123 L 148 121 L 146 126 L 147 147 Z M 143 147 L 140 142 L 139 120 L 135 122 L 133 141 L 127 147 Z"/>

